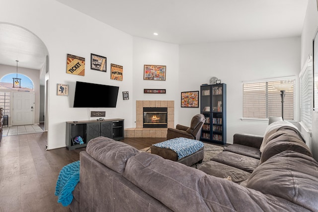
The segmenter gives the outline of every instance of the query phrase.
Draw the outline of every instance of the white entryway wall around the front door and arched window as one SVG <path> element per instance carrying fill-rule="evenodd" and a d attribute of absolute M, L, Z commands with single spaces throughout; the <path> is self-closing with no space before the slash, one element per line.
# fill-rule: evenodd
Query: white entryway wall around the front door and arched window
<path fill-rule="evenodd" d="M 9 73 L 16 73 L 16 67 L 0 64 L 0 78 Z M 34 86 L 34 124 L 39 124 L 40 116 L 40 71 L 18 67 L 18 73 L 28 76 Z M 21 81 L 22 82 L 22 81 Z M 12 90 L 6 90 L 11 92 Z M 12 125 L 12 117 L 8 117 L 8 125 Z"/>

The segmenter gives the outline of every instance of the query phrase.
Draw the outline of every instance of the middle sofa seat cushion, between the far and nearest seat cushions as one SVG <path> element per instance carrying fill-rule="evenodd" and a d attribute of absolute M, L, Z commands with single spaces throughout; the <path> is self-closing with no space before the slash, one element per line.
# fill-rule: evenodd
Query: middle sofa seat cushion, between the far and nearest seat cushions
<path fill-rule="evenodd" d="M 211 160 L 236 167 L 249 173 L 252 173 L 259 164 L 259 160 L 256 158 L 237 154 L 231 151 L 223 151 L 212 157 Z"/>

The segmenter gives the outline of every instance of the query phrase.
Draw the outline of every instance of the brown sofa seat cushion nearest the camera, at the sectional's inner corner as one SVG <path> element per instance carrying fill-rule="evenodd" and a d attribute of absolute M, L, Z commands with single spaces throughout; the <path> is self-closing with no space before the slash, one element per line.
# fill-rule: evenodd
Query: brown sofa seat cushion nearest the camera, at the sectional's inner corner
<path fill-rule="evenodd" d="M 240 183 L 244 180 L 247 180 L 250 176 L 249 172 L 243 171 L 233 166 L 225 165 L 223 163 L 218 163 L 213 160 L 204 162 L 198 169 L 215 177 L 227 178 L 230 176 L 232 182 L 235 183 Z"/>

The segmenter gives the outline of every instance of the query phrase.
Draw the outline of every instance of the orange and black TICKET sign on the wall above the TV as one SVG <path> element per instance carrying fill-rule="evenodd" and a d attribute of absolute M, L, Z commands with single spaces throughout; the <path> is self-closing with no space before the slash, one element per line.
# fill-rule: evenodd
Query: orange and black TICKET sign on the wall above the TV
<path fill-rule="evenodd" d="M 85 58 L 75 55 L 67 55 L 66 72 L 84 76 L 85 75 Z"/>

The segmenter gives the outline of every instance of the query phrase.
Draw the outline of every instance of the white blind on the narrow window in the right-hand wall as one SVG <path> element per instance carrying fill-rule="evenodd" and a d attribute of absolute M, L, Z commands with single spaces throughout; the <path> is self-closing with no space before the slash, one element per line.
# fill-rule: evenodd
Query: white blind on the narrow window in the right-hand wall
<path fill-rule="evenodd" d="M 307 127 L 309 131 L 312 131 L 312 108 L 313 108 L 313 60 L 312 57 L 306 61 L 302 71 L 299 74 L 300 77 L 300 121 Z"/>

